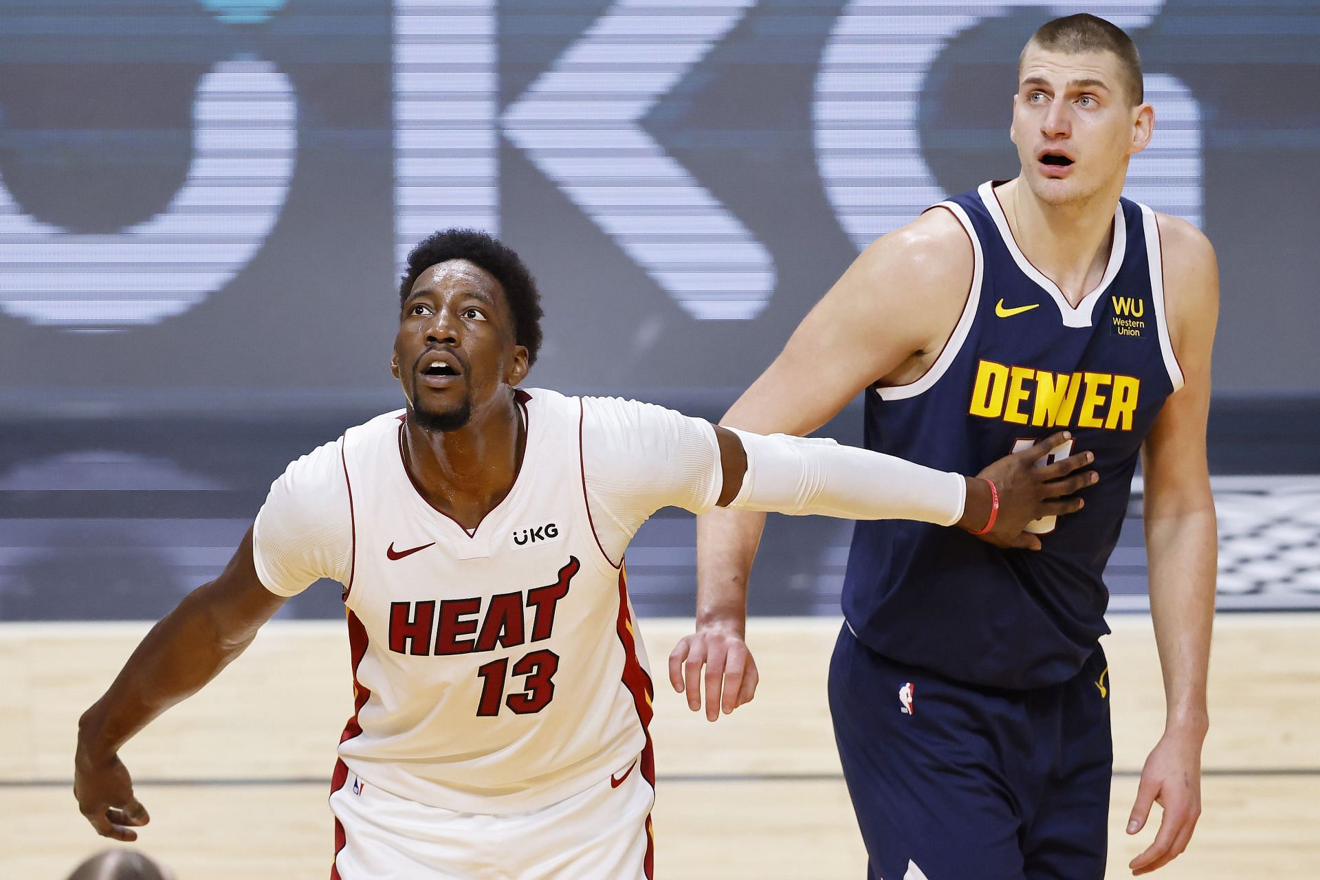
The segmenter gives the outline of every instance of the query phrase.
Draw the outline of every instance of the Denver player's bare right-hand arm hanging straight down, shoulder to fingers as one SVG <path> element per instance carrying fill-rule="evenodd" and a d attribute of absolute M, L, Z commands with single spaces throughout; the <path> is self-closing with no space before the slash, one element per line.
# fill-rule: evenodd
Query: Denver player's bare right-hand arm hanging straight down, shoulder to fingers
<path fill-rule="evenodd" d="M 1183 852 L 1200 815 L 1217 555 L 1205 424 L 1218 270 L 1213 248 L 1193 227 L 1162 216 L 1160 231 L 1170 329 L 1185 384 L 1164 402 L 1142 450 L 1151 619 L 1167 715 L 1164 736 L 1142 770 L 1129 834 L 1140 830 L 1155 801 L 1164 818 L 1155 842 L 1133 859 L 1134 873 L 1154 871 Z"/>

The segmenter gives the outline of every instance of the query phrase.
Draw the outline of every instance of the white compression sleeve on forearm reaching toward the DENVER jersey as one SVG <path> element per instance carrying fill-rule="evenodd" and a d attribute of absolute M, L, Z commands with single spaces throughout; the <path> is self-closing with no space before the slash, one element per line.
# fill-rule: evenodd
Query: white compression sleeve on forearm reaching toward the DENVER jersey
<path fill-rule="evenodd" d="M 961 474 L 825 438 L 730 430 L 747 453 L 747 472 L 729 507 L 936 525 L 962 519 L 968 484 Z"/>

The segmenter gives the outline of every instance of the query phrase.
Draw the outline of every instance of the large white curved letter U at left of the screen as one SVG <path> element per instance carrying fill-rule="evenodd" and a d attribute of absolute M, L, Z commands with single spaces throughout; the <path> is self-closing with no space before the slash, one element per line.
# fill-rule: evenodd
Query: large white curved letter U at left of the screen
<path fill-rule="evenodd" d="M 193 162 L 152 219 L 110 235 L 25 214 L 0 182 L 0 309 L 34 325 L 107 331 L 187 311 L 227 285 L 275 226 L 297 156 L 289 79 L 224 61 L 193 103 Z"/>

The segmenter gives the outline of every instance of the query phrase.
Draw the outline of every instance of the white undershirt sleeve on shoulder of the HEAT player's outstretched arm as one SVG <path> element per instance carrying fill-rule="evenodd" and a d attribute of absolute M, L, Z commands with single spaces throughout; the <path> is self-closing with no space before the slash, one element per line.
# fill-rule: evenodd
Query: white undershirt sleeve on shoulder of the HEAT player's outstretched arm
<path fill-rule="evenodd" d="M 582 474 L 595 537 L 612 561 L 660 508 L 705 513 L 723 488 L 710 422 L 618 397 L 582 398 Z"/>

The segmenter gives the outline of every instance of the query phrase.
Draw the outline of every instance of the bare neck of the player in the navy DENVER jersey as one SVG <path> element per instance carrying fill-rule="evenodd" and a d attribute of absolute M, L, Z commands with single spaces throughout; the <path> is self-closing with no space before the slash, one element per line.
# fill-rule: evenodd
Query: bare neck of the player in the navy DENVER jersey
<path fill-rule="evenodd" d="M 1119 179 L 1118 187 L 1106 187 L 1088 199 L 1051 204 L 1039 199 L 1020 177 L 998 190 L 1018 248 L 1059 285 L 1073 306 L 1105 276 L 1121 191 Z"/>

